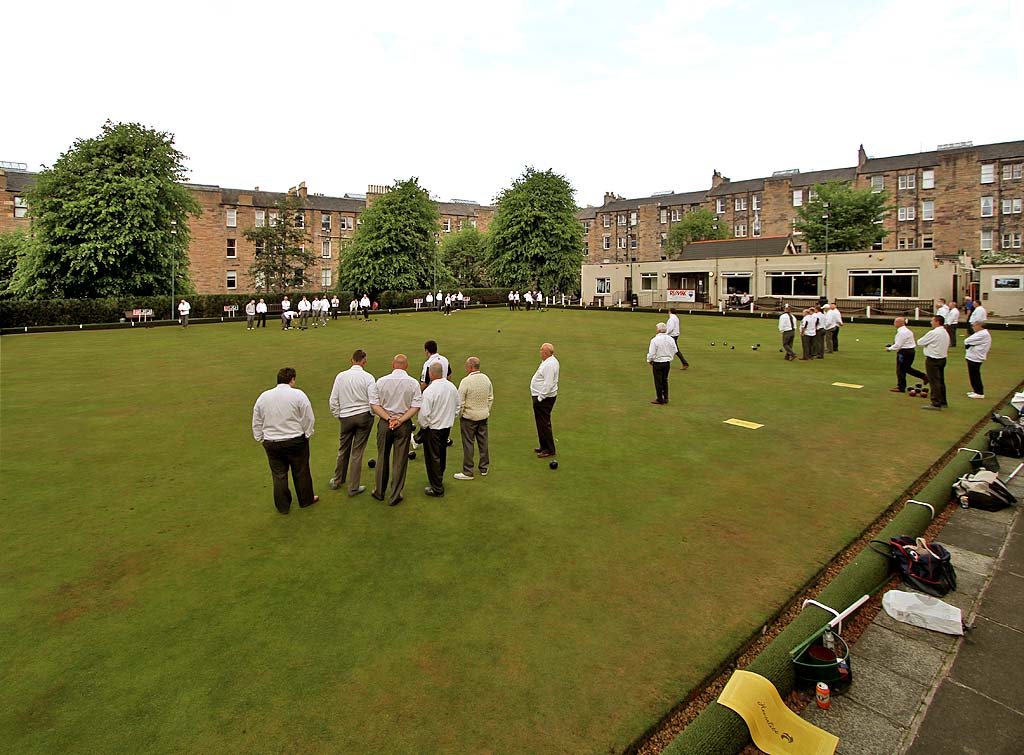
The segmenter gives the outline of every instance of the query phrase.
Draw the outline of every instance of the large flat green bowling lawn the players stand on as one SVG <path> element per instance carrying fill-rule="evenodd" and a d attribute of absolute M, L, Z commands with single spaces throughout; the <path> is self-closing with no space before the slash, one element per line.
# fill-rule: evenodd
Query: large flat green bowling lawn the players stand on
<path fill-rule="evenodd" d="M 949 411 L 922 412 L 888 392 L 891 328 L 848 326 L 841 353 L 785 363 L 773 321 L 684 317 L 692 368 L 657 407 L 658 319 L 492 308 L 3 338 L 4 749 L 622 750 L 1024 373 L 1021 334 L 996 332 L 991 401 L 964 397 L 957 348 Z M 396 508 L 330 491 L 334 376 L 356 347 L 378 377 L 397 351 L 418 371 L 427 338 L 456 377 L 475 354 L 495 384 L 492 473 L 451 480 L 457 442 L 443 499 L 422 494 L 422 455 Z M 532 453 L 545 340 L 557 471 Z M 316 412 L 322 498 L 290 516 L 250 432 L 284 366 Z"/>

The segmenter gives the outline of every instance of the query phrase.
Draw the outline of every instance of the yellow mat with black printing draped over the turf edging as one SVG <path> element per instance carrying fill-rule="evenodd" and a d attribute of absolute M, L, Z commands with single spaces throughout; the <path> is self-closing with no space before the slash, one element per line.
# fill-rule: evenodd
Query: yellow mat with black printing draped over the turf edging
<path fill-rule="evenodd" d="M 768 755 L 834 755 L 839 738 L 790 710 L 768 679 L 735 671 L 718 702 L 738 713 L 754 744 Z"/>

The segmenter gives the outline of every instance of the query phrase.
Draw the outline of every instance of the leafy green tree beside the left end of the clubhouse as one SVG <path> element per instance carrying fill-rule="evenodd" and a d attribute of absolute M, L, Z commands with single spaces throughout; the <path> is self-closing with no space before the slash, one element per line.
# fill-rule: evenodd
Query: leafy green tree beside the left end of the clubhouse
<path fill-rule="evenodd" d="M 564 176 L 527 167 L 497 200 L 488 229 L 495 284 L 575 291 L 583 264 L 583 226 Z"/>

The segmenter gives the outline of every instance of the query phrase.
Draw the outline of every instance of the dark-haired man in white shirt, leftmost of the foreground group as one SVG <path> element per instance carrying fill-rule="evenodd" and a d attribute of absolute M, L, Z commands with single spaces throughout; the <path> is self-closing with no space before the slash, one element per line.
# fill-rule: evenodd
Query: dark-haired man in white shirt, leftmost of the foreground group
<path fill-rule="evenodd" d="M 253 437 L 263 444 L 273 477 L 273 505 L 283 514 L 292 508 L 288 472 L 295 480 L 299 507 L 319 500 L 313 495 L 309 474 L 309 436 L 313 434 L 313 408 L 309 399 L 295 387 L 295 370 L 278 371 L 278 385 L 264 390 L 253 407 Z"/>

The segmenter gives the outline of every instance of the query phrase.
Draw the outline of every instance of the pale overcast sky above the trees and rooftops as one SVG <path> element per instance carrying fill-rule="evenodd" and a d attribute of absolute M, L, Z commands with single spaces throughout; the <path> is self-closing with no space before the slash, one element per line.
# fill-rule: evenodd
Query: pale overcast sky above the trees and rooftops
<path fill-rule="evenodd" d="M 523 167 L 581 205 L 1024 138 L 1017 0 L 20 2 L 0 12 L 0 160 L 106 119 L 189 178 L 490 202 Z"/>

